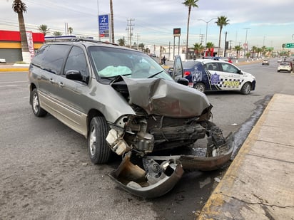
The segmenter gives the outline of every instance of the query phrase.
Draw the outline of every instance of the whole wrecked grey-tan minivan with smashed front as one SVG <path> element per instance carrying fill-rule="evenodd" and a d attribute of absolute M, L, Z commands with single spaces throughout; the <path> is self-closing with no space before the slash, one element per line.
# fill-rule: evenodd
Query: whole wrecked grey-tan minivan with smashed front
<path fill-rule="evenodd" d="M 85 39 L 45 44 L 29 66 L 30 104 L 37 117 L 49 112 L 86 137 L 93 164 L 121 155 L 110 177 L 123 189 L 159 197 L 184 169 L 218 169 L 233 151 L 232 135 L 211 122 L 206 95 L 187 86 L 179 56 L 171 75 L 130 48 Z M 206 156 L 156 156 L 198 139 L 208 142 Z"/>

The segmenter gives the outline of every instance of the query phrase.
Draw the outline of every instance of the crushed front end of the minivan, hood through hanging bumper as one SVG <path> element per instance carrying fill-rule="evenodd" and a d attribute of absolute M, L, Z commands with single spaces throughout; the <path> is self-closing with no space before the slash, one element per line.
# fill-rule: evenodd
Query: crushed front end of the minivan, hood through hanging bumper
<path fill-rule="evenodd" d="M 233 135 L 223 137 L 211 122 L 212 105 L 204 93 L 161 78 L 120 76 L 111 86 L 136 112 L 121 115 L 106 137 L 111 150 L 123 156 L 110 177 L 126 191 L 160 197 L 173 189 L 185 169 L 213 170 L 230 160 Z M 205 154 L 181 154 L 201 139 L 207 140 Z M 175 149 L 180 154 L 171 154 Z"/>

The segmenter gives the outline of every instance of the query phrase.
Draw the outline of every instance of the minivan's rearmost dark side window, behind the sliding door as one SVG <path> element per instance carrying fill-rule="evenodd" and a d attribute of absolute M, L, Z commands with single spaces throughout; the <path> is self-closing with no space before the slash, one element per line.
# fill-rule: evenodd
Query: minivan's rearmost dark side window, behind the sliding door
<path fill-rule="evenodd" d="M 38 51 L 32 64 L 47 70 L 54 74 L 60 74 L 61 68 L 64 66 L 66 56 L 71 46 L 61 44 L 46 45 Z"/>

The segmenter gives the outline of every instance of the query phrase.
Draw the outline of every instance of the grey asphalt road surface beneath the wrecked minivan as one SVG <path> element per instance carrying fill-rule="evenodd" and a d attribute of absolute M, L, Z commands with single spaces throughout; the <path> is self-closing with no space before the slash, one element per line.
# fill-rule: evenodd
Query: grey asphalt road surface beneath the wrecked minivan
<path fill-rule="evenodd" d="M 240 66 L 256 77 L 250 95 L 207 93 L 213 122 L 235 132 L 235 152 L 274 93 L 294 95 L 294 75 L 277 66 Z M 33 115 L 26 73 L 0 73 L 0 107 L 0 219 L 195 219 L 225 172 L 186 172 L 163 197 L 134 197 L 108 177 L 117 162 L 91 164 L 84 137 Z"/>

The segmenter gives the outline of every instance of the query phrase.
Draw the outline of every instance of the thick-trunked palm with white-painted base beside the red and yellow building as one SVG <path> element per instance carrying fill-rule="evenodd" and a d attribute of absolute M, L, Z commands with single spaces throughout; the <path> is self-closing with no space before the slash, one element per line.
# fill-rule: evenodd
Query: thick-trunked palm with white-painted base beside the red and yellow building
<path fill-rule="evenodd" d="M 17 13 L 19 18 L 19 33 L 21 34 L 21 53 L 22 59 L 25 63 L 31 61 L 31 56 L 29 53 L 28 41 L 26 38 L 26 26 L 24 23 L 24 12 L 26 12 L 26 4 L 21 0 L 14 0 L 12 4 L 12 9 Z"/>

